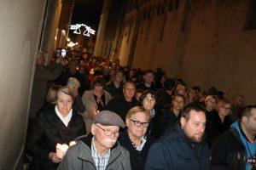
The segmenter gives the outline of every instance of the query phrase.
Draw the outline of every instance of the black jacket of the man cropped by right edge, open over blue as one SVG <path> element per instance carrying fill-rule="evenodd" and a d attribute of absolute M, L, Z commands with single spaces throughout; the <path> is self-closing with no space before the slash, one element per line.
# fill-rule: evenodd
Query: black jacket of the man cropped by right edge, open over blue
<path fill-rule="evenodd" d="M 236 128 L 223 133 L 212 144 L 212 170 L 245 170 L 246 150 Z"/>

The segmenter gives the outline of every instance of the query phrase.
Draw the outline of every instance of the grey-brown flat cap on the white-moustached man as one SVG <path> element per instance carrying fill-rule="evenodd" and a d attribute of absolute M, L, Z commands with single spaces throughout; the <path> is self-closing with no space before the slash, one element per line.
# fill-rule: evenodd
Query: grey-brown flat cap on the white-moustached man
<path fill-rule="evenodd" d="M 125 122 L 113 111 L 100 111 L 94 117 L 95 123 L 101 123 L 105 126 L 118 126 L 125 128 Z"/>

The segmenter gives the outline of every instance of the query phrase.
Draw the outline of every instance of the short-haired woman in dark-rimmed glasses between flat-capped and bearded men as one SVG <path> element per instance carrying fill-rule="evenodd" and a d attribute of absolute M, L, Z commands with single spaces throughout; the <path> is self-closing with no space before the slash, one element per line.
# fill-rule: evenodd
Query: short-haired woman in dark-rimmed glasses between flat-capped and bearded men
<path fill-rule="evenodd" d="M 132 170 L 144 169 L 148 150 L 154 139 L 146 135 L 151 116 L 141 107 L 136 106 L 128 111 L 125 117 L 127 130 L 121 133 L 119 143 L 130 152 Z"/>

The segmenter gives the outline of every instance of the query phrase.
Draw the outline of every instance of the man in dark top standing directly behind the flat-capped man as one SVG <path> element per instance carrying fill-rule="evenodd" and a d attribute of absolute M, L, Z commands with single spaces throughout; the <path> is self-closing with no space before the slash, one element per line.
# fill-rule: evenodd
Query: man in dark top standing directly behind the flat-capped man
<path fill-rule="evenodd" d="M 134 98 L 135 95 L 135 85 L 133 82 L 125 82 L 124 88 L 123 88 L 123 95 L 111 99 L 108 102 L 108 105 L 106 105 L 105 110 L 113 111 L 117 113 L 123 121 L 125 121 L 125 116 L 127 112 L 134 106 L 137 105 L 137 101 Z"/>

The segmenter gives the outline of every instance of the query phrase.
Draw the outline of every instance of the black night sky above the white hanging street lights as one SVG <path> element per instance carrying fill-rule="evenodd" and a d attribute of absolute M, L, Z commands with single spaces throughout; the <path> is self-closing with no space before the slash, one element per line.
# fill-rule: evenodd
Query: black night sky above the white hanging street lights
<path fill-rule="evenodd" d="M 71 24 L 85 24 L 97 30 L 104 0 L 76 0 Z"/>

